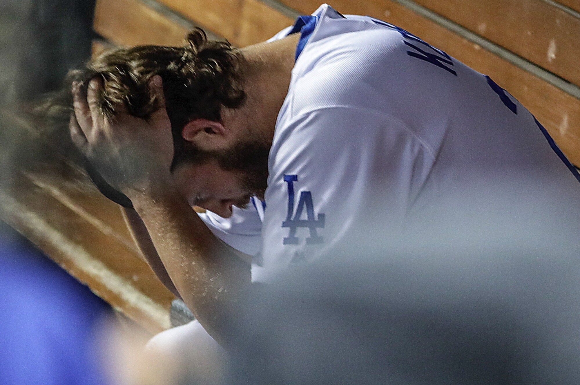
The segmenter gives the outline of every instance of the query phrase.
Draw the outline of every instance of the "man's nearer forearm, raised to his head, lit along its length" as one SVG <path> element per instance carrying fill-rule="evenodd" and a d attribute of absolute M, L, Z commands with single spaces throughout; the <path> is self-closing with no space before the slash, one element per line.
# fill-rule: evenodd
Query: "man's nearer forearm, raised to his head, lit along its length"
<path fill-rule="evenodd" d="M 171 183 L 130 194 L 184 302 L 227 345 L 227 324 L 250 284 L 249 265 L 209 231 Z"/>

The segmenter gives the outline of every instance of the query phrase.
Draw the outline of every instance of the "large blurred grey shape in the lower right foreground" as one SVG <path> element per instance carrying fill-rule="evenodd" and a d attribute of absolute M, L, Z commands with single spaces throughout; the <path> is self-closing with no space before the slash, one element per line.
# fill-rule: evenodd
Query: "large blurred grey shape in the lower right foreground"
<path fill-rule="evenodd" d="M 524 187 L 289 271 L 249 306 L 230 383 L 580 383 L 578 218 L 553 209 L 578 202 Z"/>

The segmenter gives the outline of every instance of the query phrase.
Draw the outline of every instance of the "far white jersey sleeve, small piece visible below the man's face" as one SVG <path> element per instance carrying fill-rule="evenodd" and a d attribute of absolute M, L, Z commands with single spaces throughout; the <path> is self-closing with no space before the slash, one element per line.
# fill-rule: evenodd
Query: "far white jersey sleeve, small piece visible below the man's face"
<path fill-rule="evenodd" d="M 232 215 L 222 218 L 216 213 L 198 213 L 212 233 L 236 250 L 256 255 L 262 247 L 262 220 L 255 206 L 241 209 L 233 206 Z"/>

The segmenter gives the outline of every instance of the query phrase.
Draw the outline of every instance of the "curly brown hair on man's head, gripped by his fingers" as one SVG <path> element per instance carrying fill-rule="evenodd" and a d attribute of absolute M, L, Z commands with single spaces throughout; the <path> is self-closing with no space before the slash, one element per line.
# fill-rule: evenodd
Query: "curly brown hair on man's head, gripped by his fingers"
<path fill-rule="evenodd" d="M 124 104 L 132 115 L 147 119 L 159 107 L 148 82 L 160 75 L 175 145 L 173 163 L 183 157 L 195 161 L 191 151 L 183 151 L 187 146 L 183 126 L 195 118 L 220 121 L 222 106 L 242 106 L 245 93 L 240 63 L 240 52 L 229 42 L 208 40 L 204 30 L 195 28 L 186 35 L 184 46 L 146 45 L 102 53 L 84 68 L 68 72 L 63 89 L 49 96 L 37 111 L 61 135 L 68 136 L 73 83 L 79 83 L 86 95 L 89 81 L 100 77 L 104 87 L 97 100 L 105 117 L 113 118 L 115 106 Z"/>

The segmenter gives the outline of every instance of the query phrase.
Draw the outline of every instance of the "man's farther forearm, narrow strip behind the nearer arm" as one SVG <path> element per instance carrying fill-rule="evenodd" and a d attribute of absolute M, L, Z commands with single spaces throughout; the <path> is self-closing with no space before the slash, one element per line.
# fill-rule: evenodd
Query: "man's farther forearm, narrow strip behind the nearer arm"
<path fill-rule="evenodd" d="M 137 212 L 133 209 L 124 207 L 121 208 L 121 212 L 123 214 L 123 218 L 125 219 L 125 223 L 129 228 L 129 232 L 133 237 L 133 240 L 147 261 L 147 264 L 151 267 L 151 270 L 154 271 L 155 275 L 157 275 L 157 278 L 160 279 L 162 284 L 164 284 L 165 287 L 169 289 L 169 291 L 180 297 L 180 294 L 175 288 L 175 285 L 173 285 L 171 278 L 169 278 L 169 274 L 167 273 L 167 270 L 165 269 L 165 266 L 161 261 L 159 254 L 157 253 L 157 249 L 155 249 L 155 246 L 151 241 L 147 227 L 143 223 L 143 220 L 139 217 L 139 214 L 137 214 Z"/>

